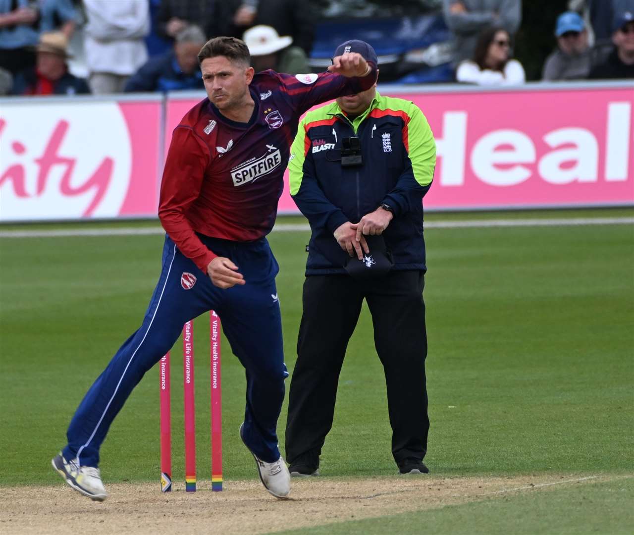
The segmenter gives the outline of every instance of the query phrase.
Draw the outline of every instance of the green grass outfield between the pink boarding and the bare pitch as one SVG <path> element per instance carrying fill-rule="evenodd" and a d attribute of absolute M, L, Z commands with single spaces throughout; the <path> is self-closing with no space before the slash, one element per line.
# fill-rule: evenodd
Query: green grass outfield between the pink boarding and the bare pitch
<path fill-rule="evenodd" d="M 427 220 L 619 216 L 634 210 L 431 214 Z M 148 225 L 155 222 L 95 224 Z M 11 228 L 17 227 L 0 230 Z M 270 236 L 280 263 L 289 371 L 308 236 Z M 426 462 L 434 474 L 631 474 L 634 225 L 432 228 L 425 240 L 432 422 Z M 0 238 L 0 486 L 59 484 L 50 458 L 65 444 L 68 421 L 89 385 L 138 327 L 161 250 L 159 235 Z M 202 480 L 210 474 L 208 318 L 198 318 L 194 328 Z M 175 481 L 183 479 L 184 465 L 179 343 L 172 357 Z M 244 390 L 243 368 L 223 339 L 225 479 L 254 477 L 238 439 Z M 285 417 L 286 404 L 280 444 Z M 158 487 L 157 367 L 113 423 L 101 456 L 106 483 L 155 480 Z M 364 309 L 320 471 L 368 477 L 395 469 L 385 382 Z M 631 497 L 631 484 L 626 487 Z M 468 512 L 477 505 L 462 507 Z M 441 527 L 443 511 L 434 513 Z"/>

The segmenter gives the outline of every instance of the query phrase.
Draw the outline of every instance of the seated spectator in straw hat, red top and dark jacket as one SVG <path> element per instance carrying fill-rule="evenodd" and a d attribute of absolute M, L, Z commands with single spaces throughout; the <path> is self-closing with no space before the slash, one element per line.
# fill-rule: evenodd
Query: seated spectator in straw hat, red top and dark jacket
<path fill-rule="evenodd" d="M 37 45 L 36 67 L 28 67 L 13 81 L 13 94 L 90 93 L 86 81 L 68 72 L 68 39 L 63 32 L 44 32 Z"/>

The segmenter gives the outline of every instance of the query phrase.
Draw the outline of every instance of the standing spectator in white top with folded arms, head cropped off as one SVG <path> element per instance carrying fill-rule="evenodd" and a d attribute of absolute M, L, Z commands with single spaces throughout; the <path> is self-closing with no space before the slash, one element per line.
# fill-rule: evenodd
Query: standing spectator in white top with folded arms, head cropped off
<path fill-rule="evenodd" d="M 84 0 L 84 47 L 94 94 L 120 93 L 145 63 L 143 37 L 150 30 L 148 0 Z"/>

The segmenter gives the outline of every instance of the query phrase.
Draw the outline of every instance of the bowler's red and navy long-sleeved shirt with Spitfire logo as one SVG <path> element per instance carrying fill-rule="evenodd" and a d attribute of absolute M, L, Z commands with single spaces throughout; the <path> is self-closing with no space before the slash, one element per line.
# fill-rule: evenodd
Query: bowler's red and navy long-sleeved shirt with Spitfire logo
<path fill-rule="evenodd" d="M 256 106 L 248 123 L 223 117 L 207 98 L 174 129 L 160 188 L 159 218 L 181 252 L 207 272 L 216 255 L 196 233 L 235 242 L 273 228 L 290 145 L 302 113 L 338 96 L 370 89 L 365 77 L 257 73 L 249 89 Z"/>

